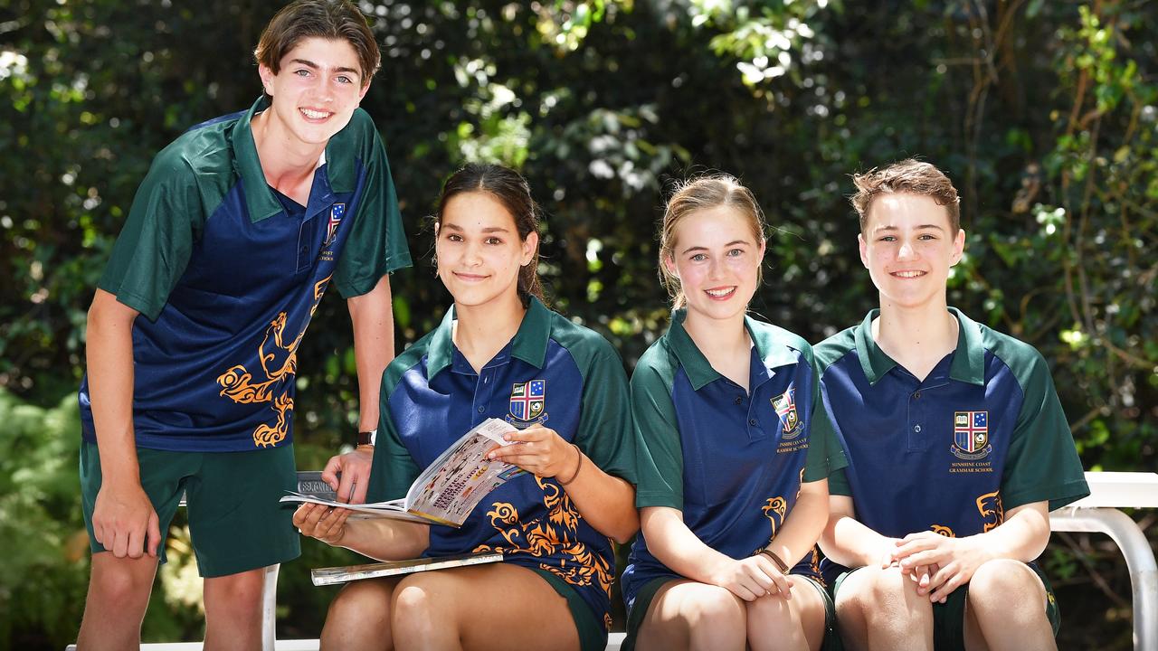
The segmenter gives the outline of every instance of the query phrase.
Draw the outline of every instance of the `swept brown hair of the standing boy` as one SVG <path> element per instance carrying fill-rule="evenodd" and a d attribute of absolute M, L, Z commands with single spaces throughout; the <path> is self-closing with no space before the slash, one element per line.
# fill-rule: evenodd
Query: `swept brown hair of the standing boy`
<path fill-rule="evenodd" d="M 345 41 L 358 54 L 361 66 L 361 86 L 369 83 L 381 64 L 381 53 L 366 16 L 349 0 L 296 0 L 281 8 L 254 50 L 258 64 L 277 74 L 281 58 L 302 38 Z"/>

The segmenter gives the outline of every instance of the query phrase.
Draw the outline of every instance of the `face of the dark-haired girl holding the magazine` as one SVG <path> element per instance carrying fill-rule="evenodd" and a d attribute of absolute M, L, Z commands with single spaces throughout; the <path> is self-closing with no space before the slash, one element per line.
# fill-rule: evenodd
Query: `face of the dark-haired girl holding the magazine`
<path fill-rule="evenodd" d="M 519 303 L 519 270 L 538 234 L 519 237 L 514 217 L 488 192 L 462 192 L 442 207 L 435 231 L 438 276 L 460 307 Z"/>

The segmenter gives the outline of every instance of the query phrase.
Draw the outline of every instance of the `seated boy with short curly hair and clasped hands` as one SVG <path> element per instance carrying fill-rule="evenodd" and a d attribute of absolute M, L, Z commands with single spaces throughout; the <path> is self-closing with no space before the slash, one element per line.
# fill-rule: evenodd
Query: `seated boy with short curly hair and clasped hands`
<path fill-rule="evenodd" d="M 1046 360 L 946 305 L 957 190 L 907 160 L 853 176 L 860 261 L 880 309 L 819 346 L 849 466 L 821 547 L 852 649 L 1055 649 L 1031 562 L 1048 511 L 1089 495 Z"/>

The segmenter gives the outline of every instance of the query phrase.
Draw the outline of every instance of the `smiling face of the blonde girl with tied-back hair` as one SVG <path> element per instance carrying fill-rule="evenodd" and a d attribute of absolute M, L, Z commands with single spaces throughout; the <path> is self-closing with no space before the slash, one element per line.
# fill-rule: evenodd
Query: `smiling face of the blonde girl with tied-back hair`
<path fill-rule="evenodd" d="M 680 279 L 688 321 L 743 316 L 764 258 L 748 217 L 726 205 L 692 212 L 676 225 L 672 251 L 664 264 Z"/>

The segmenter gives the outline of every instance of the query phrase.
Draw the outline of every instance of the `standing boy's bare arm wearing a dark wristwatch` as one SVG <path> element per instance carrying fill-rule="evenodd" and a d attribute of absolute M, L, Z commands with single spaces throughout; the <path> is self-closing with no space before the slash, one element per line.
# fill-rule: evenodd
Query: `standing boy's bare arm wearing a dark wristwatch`
<path fill-rule="evenodd" d="M 378 427 L 379 396 L 382 371 L 394 359 L 394 306 L 390 277 L 383 276 L 378 285 L 360 297 L 346 300 L 350 321 L 354 329 L 354 364 L 358 367 L 358 431 Z M 359 446 L 350 454 L 334 456 L 325 465 L 322 480 L 338 493 L 338 500 L 361 504 L 366 502 L 369 470 L 374 459 L 373 446 Z M 338 473 L 342 474 L 340 481 Z"/>

